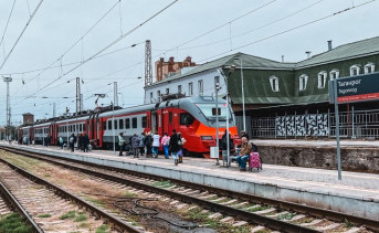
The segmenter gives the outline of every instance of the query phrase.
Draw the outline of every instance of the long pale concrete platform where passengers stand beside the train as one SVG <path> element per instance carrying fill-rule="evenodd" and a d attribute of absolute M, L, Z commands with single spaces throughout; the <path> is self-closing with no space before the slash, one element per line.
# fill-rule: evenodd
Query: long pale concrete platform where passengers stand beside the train
<path fill-rule="evenodd" d="M 254 142 L 256 141 L 254 140 Z M 51 156 L 154 173 L 379 220 L 379 174 L 343 171 L 343 179 L 338 180 L 336 170 L 264 163 L 263 170 L 243 172 L 235 163 L 229 168 L 217 166 L 214 159 L 185 157 L 183 163 L 175 166 L 172 159 L 165 159 L 164 156 L 159 156 L 157 159 L 133 158 L 133 156 L 119 157 L 118 151 L 116 153 L 106 150 L 71 152 L 57 147 L 20 146 L 4 142 L 0 142 L 0 145 L 32 151 L 44 150 Z"/>

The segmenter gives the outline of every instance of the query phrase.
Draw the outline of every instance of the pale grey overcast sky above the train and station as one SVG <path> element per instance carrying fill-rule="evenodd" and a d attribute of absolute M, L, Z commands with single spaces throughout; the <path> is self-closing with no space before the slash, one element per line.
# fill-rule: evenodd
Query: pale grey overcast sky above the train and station
<path fill-rule="evenodd" d="M 95 93 L 106 93 L 99 103 L 109 104 L 113 82 L 122 93 L 119 105 L 143 104 L 146 40 L 151 40 L 152 62 L 170 56 L 182 61 L 190 55 L 204 63 L 236 52 L 275 61 L 284 55 L 285 62 L 298 62 L 306 59 L 305 51 L 325 52 L 328 40 L 338 46 L 379 35 L 379 1 L 370 0 L 179 0 L 139 28 L 172 0 L 44 0 L 10 53 L 40 2 L 15 0 L 4 33 L 13 1 L 0 1 L 0 36 L 4 34 L 0 74 L 13 78 L 13 124 L 19 124 L 23 113 L 36 119 L 52 117 L 53 103 L 56 115 L 66 107 L 75 112 L 75 77 L 84 82 L 85 109 L 95 107 Z M 358 7 L 365 2 L 370 3 Z M 7 119 L 6 93 L 1 81 L 0 125 Z"/>

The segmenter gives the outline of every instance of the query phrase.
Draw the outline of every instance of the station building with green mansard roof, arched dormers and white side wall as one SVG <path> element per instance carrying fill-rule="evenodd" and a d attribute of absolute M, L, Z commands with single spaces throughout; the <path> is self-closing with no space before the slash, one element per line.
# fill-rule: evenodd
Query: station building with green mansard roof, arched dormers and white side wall
<path fill-rule="evenodd" d="M 297 63 L 236 53 L 189 67 L 145 86 L 145 103 L 176 93 L 214 96 L 219 83 L 219 97 L 225 96 L 228 86 L 240 129 L 243 88 L 246 129 L 254 138 L 334 137 L 328 82 L 377 72 L 379 36 L 335 49 L 331 41 L 326 45 L 326 52 Z M 379 102 L 339 105 L 341 137 L 379 138 L 378 108 Z"/>

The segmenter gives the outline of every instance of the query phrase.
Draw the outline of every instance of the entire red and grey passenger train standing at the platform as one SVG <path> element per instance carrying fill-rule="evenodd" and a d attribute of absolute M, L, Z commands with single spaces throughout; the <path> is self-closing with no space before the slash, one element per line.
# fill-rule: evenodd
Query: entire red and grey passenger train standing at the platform
<path fill-rule="evenodd" d="M 43 138 L 49 135 L 52 138 L 51 144 L 56 145 L 59 137 L 67 141 L 72 134 L 86 133 L 93 147 L 108 149 L 113 148 L 113 137 L 118 145 L 119 133 L 124 133 L 124 138 L 128 141 L 134 134 L 155 131 L 162 136 L 165 133 L 171 135 L 172 129 L 176 129 L 187 140 L 183 146 L 186 151 L 209 157 L 210 147 L 215 146 L 215 112 L 219 114 L 220 137 L 224 134 L 229 110 L 231 138 L 234 142 L 240 142 L 233 112 L 227 108 L 224 99 L 218 102 L 217 110 L 215 99 L 211 96 L 170 99 L 25 126 L 21 128 L 20 134 L 22 137 L 28 136 L 34 144 L 42 144 Z"/>

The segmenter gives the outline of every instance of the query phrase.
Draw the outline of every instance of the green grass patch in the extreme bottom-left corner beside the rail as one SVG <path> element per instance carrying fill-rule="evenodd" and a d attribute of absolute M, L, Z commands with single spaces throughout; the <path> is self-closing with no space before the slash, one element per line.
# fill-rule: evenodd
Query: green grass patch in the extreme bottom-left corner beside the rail
<path fill-rule="evenodd" d="M 2 233 L 29 233 L 32 227 L 23 222 L 19 213 L 11 213 L 0 218 L 0 232 Z"/>

